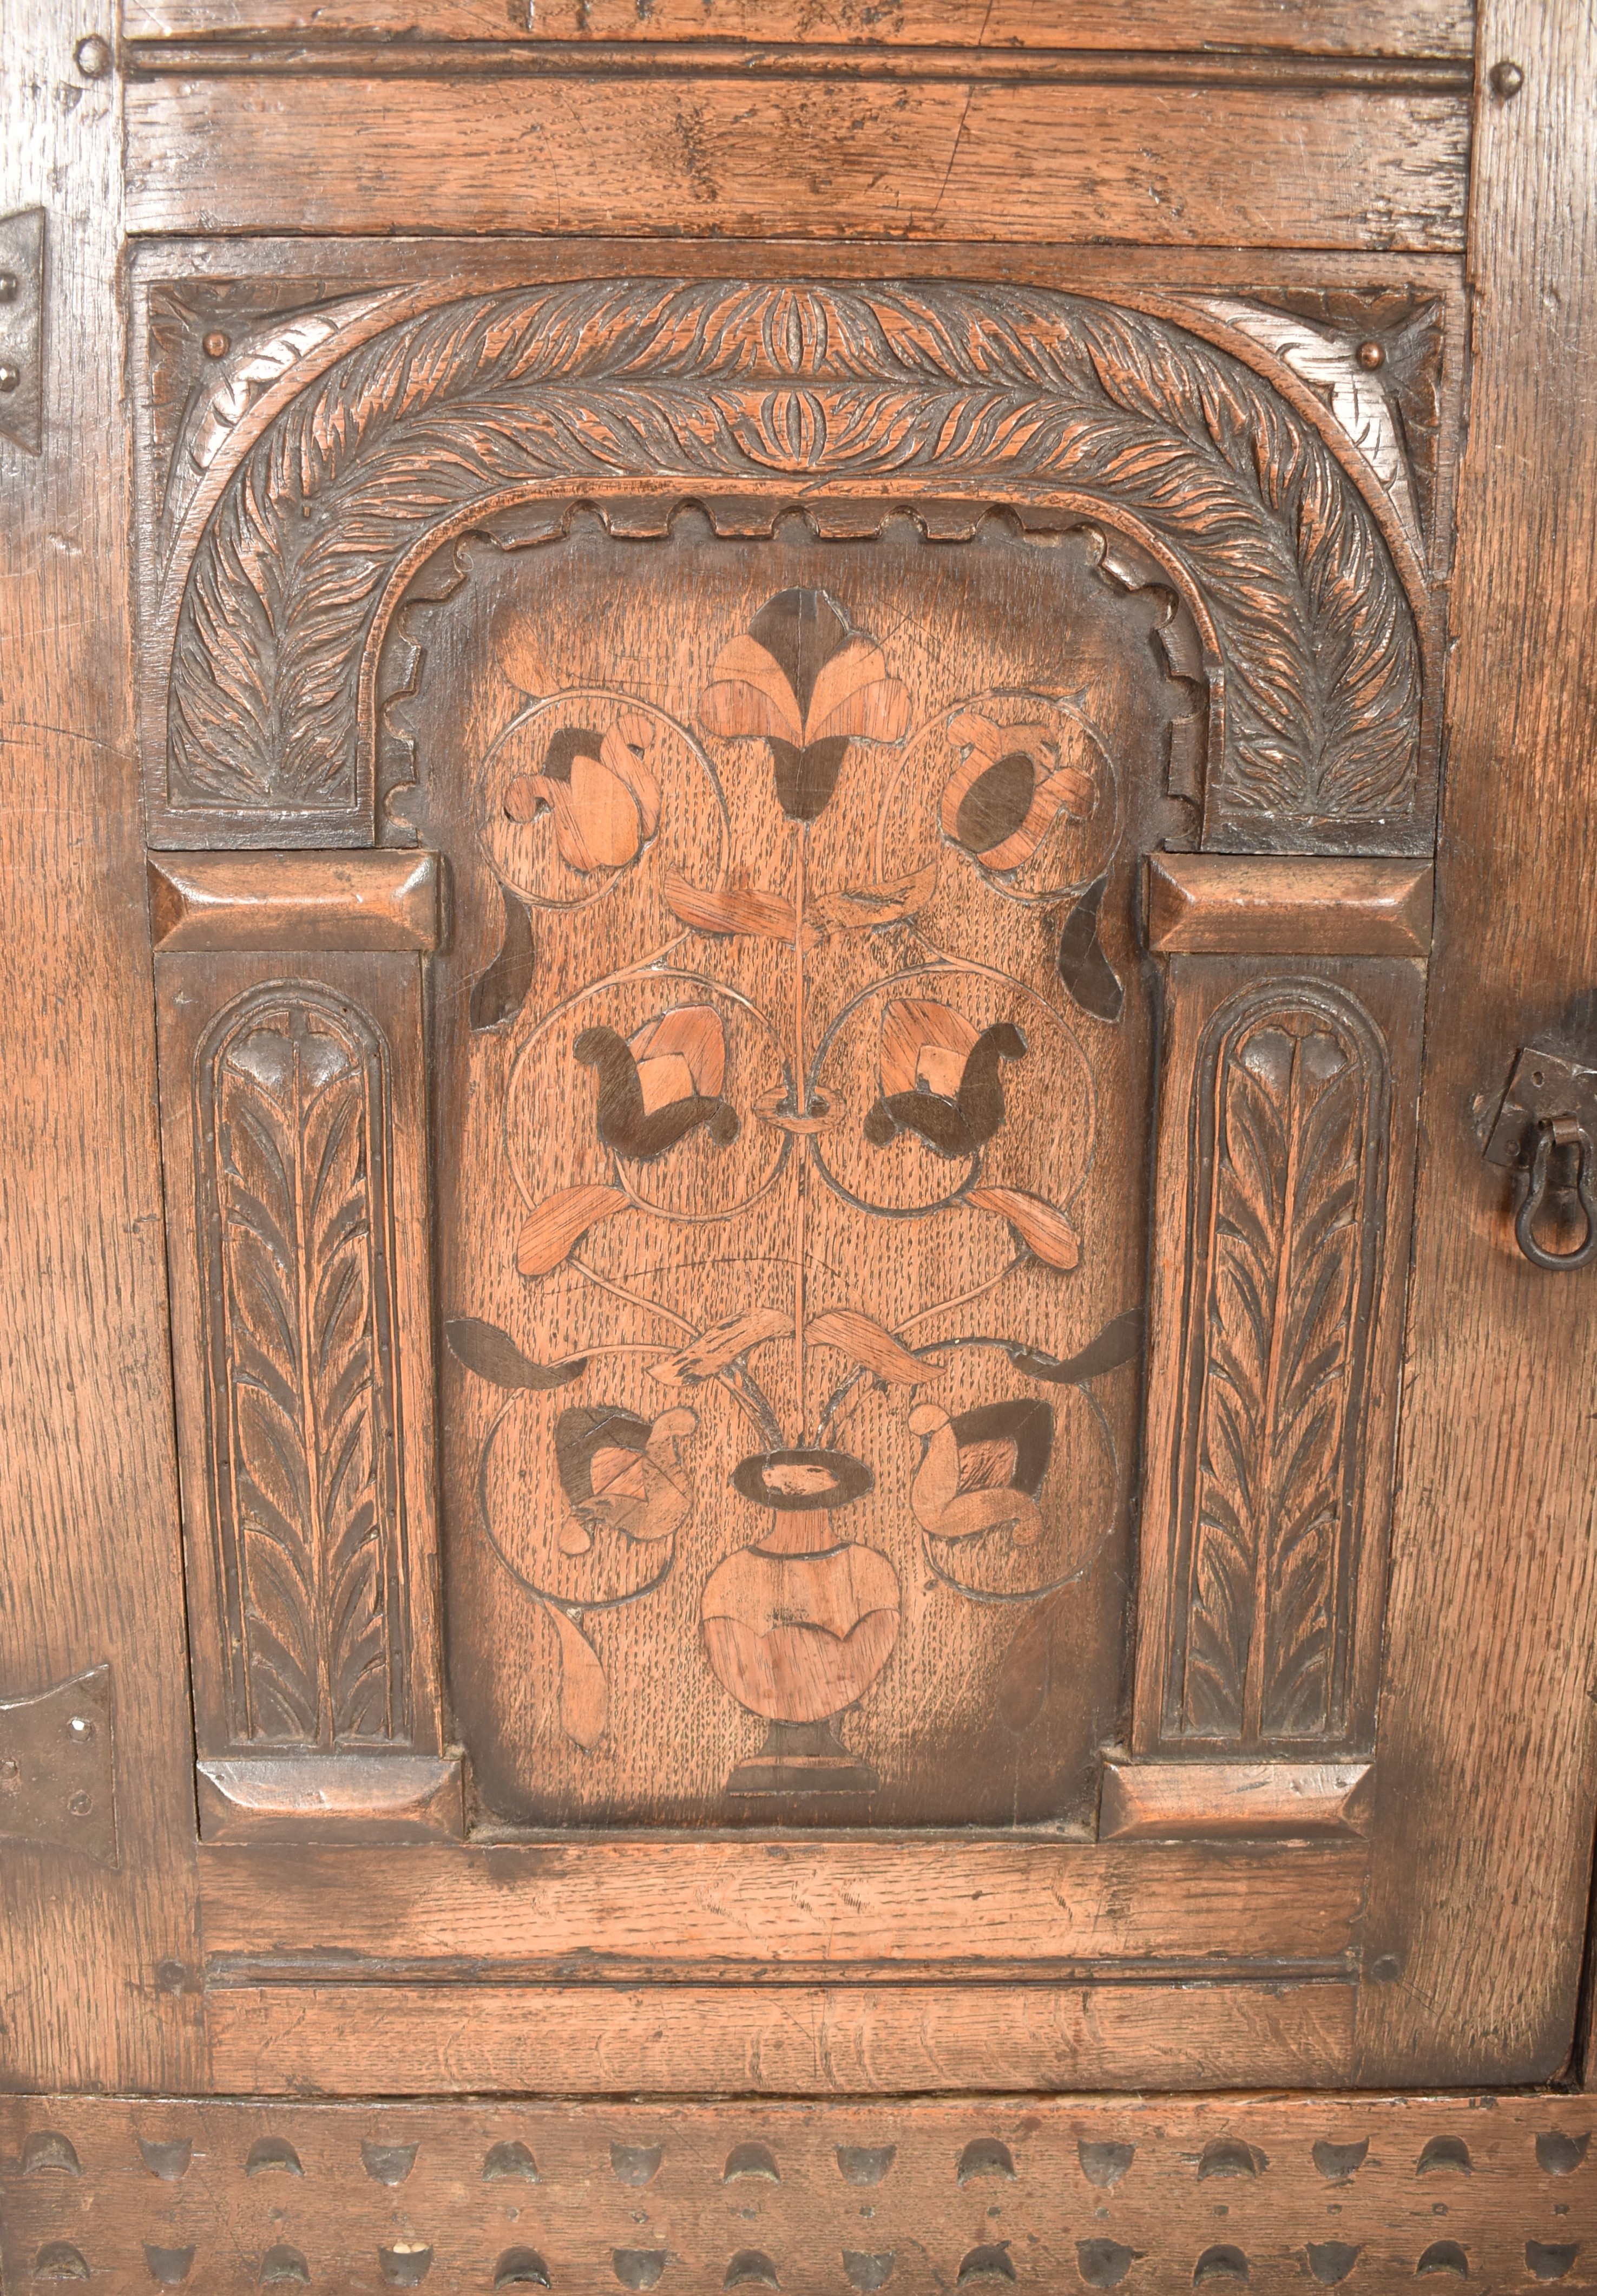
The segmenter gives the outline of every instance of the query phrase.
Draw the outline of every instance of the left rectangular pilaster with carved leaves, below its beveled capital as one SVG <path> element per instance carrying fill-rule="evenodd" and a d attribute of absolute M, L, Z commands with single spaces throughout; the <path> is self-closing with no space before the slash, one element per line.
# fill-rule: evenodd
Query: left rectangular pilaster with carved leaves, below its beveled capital
<path fill-rule="evenodd" d="M 305 1756 L 441 1750 L 418 960 L 165 955 L 158 992 L 200 1754 L 259 1756 L 257 1821 L 346 1823 Z"/>

